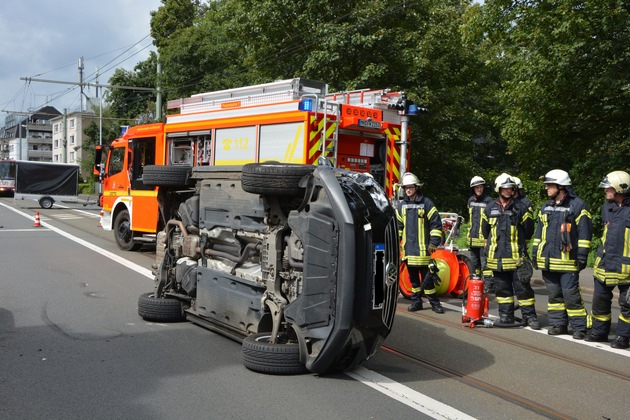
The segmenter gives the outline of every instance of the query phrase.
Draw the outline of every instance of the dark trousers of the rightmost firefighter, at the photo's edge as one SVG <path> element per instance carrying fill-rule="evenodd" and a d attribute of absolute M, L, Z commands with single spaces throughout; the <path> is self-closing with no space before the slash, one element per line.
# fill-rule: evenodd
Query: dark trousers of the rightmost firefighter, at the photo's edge
<path fill-rule="evenodd" d="M 630 304 L 626 300 L 626 294 L 630 284 L 620 284 L 619 287 L 619 320 L 617 322 L 617 335 L 630 338 Z M 593 327 L 591 334 L 608 335 L 612 320 L 612 299 L 615 286 L 607 286 L 595 279 L 593 288 L 593 307 L 591 317 Z"/>

